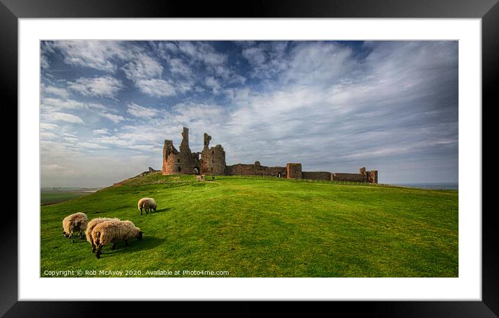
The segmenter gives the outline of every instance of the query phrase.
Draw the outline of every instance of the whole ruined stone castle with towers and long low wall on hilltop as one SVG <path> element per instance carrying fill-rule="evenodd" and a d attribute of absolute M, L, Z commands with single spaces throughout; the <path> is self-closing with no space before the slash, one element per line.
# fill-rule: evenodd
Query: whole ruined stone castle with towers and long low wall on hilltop
<path fill-rule="evenodd" d="M 254 164 L 226 165 L 225 151 L 221 144 L 210 147 L 211 136 L 203 136 L 203 150 L 192 153 L 189 148 L 189 129 L 183 128 L 180 151 L 173 141 L 164 140 L 162 174 L 216 174 L 218 176 L 277 176 L 288 179 L 310 179 L 327 181 L 351 181 L 378 183 L 378 170 L 359 169 L 358 174 L 339 172 L 305 172 L 301 163 L 288 163 L 286 167 L 266 167 L 255 161 Z M 200 158 L 201 157 L 201 158 Z"/>

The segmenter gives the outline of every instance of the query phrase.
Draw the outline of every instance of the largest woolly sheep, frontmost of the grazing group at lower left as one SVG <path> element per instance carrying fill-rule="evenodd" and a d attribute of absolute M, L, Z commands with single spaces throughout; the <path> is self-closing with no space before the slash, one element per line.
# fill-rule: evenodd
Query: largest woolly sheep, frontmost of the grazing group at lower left
<path fill-rule="evenodd" d="M 109 220 L 101 222 L 93 227 L 91 235 L 94 244 L 97 246 L 95 257 L 98 259 L 100 259 L 102 247 L 109 243 L 112 243 L 111 249 L 114 250 L 114 248 L 116 248 L 116 242 L 118 241 L 125 241 L 125 245 L 128 246 L 129 239 L 142 239 L 141 230 L 128 220 Z"/>

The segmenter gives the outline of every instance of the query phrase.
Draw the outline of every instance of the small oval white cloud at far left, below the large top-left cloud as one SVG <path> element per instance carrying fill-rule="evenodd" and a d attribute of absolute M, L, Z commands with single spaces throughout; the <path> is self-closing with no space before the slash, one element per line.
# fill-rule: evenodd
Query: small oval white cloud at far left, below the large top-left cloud
<path fill-rule="evenodd" d="M 68 82 L 68 88 L 84 96 L 115 98 L 118 91 L 123 89 L 121 81 L 114 77 L 80 77 L 75 82 Z"/>

